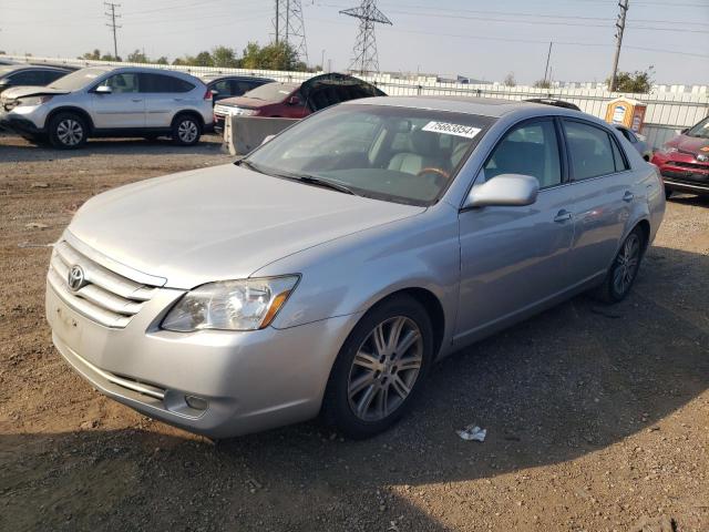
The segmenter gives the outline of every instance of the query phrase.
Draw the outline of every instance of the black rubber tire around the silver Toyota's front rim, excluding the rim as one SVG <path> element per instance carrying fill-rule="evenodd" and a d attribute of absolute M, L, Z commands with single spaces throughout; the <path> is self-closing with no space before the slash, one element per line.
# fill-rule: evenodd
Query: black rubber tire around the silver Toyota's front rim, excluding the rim
<path fill-rule="evenodd" d="M 423 362 L 413 389 L 404 402 L 387 418 L 379 421 L 363 421 L 358 418 L 349 403 L 348 381 L 352 360 L 359 347 L 367 339 L 371 330 L 393 316 L 404 316 L 412 319 L 423 338 Z M 433 327 L 424 307 L 414 298 L 401 295 L 382 301 L 370 309 L 357 324 L 348 336 L 337 356 L 323 399 L 322 417 L 327 424 L 336 427 L 352 439 L 363 439 L 374 436 L 395 423 L 421 393 L 423 382 L 433 361 Z"/>

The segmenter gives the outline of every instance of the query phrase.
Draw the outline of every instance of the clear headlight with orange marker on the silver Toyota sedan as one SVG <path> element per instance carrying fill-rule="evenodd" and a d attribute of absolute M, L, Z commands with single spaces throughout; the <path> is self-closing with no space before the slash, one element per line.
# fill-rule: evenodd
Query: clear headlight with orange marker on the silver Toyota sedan
<path fill-rule="evenodd" d="M 295 289 L 297 275 L 208 283 L 188 291 L 161 327 L 178 332 L 268 327 Z"/>

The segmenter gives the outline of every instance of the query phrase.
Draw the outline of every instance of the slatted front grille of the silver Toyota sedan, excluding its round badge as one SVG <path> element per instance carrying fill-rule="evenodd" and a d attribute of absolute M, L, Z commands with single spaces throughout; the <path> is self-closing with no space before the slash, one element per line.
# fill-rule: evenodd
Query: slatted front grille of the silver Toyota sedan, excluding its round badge
<path fill-rule="evenodd" d="M 69 287 L 69 272 L 81 266 L 84 286 Z M 54 246 L 47 277 L 56 295 L 72 309 L 105 327 L 123 328 L 131 321 L 156 287 L 142 285 L 104 268 L 62 241 Z"/>

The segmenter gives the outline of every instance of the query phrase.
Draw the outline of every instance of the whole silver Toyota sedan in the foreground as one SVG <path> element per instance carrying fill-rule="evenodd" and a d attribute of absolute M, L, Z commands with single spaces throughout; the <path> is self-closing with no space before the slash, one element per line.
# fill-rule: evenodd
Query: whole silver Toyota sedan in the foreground
<path fill-rule="evenodd" d="M 363 438 L 434 361 L 578 293 L 626 297 L 664 212 L 657 170 L 586 114 L 357 100 L 234 165 L 91 198 L 47 317 L 153 418 L 223 438 L 321 415 Z"/>

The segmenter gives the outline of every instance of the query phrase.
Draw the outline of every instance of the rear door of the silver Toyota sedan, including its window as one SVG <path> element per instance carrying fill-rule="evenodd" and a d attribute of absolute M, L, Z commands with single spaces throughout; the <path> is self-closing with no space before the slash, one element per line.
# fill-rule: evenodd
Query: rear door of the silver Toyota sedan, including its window
<path fill-rule="evenodd" d="M 564 119 L 569 158 L 574 244 L 569 268 L 578 280 L 605 275 L 634 202 L 633 173 L 615 135 L 583 120 Z"/>

